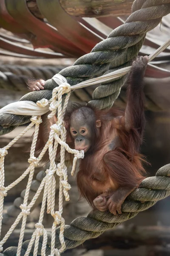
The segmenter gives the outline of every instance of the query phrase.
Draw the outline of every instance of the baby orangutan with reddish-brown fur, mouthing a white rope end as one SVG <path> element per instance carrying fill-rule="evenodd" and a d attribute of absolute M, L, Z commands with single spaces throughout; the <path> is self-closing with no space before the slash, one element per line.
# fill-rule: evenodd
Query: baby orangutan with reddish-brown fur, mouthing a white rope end
<path fill-rule="evenodd" d="M 139 149 L 145 125 L 143 78 L 147 62 L 147 56 L 133 61 L 125 111 L 114 107 L 98 110 L 90 104 L 74 103 L 65 115 L 68 143 L 72 141 L 69 145 L 85 151 L 77 173 L 80 195 L 102 212 L 121 214 L 125 198 L 144 179 Z M 41 89 L 43 82 L 32 85 L 32 89 Z M 41 125 L 40 139 L 50 126 L 43 122 Z"/>

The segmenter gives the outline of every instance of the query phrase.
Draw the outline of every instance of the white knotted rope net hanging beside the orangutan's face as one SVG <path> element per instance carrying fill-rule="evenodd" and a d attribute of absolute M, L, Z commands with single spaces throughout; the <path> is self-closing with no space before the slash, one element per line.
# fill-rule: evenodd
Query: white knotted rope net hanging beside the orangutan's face
<path fill-rule="evenodd" d="M 59 78 L 58 78 L 59 79 Z M 55 79 L 54 79 L 55 80 Z M 58 80 L 57 80 L 58 81 Z M 64 103 L 62 104 L 62 95 L 66 94 Z M 51 214 L 54 218 L 54 222 L 51 229 L 51 256 L 59 256 L 60 253 L 62 253 L 65 250 L 65 241 L 64 241 L 64 228 L 65 228 L 65 220 L 62 218 L 62 202 L 63 202 L 63 194 L 65 196 L 65 200 L 69 201 L 69 195 L 68 190 L 71 189 L 70 184 L 68 183 L 68 175 L 67 175 L 67 167 L 65 166 L 65 150 L 68 151 L 71 154 L 74 154 L 74 161 L 73 161 L 73 167 L 71 171 L 71 175 L 74 174 L 74 170 L 76 167 L 76 162 L 78 158 L 84 157 L 83 151 L 77 151 L 75 149 L 71 149 L 67 143 L 66 143 L 66 129 L 64 127 L 64 115 L 65 110 L 68 105 L 68 100 L 71 94 L 71 87 L 68 83 L 63 82 L 61 83 L 59 87 L 54 88 L 52 93 L 52 99 L 48 101 L 47 99 L 42 99 L 41 101 L 37 102 L 37 105 L 39 107 L 45 107 L 50 104 L 49 110 L 51 113 L 48 115 L 48 118 L 50 119 L 56 114 L 56 111 L 58 110 L 57 115 L 57 123 L 51 126 L 51 131 L 49 134 L 49 139 L 47 143 L 45 144 L 44 148 L 42 149 L 42 152 L 40 153 L 39 157 L 34 156 L 35 152 L 35 146 L 37 143 L 37 137 L 38 137 L 38 131 L 39 131 L 39 125 L 42 122 L 41 116 L 32 116 L 31 117 L 31 123 L 26 127 L 17 137 L 14 138 L 8 145 L 6 145 L 4 148 L 0 149 L 0 231 L 2 227 L 2 219 L 3 219 L 3 201 L 4 197 L 7 195 L 8 190 L 16 186 L 21 180 L 23 180 L 26 175 L 29 174 L 28 177 L 28 184 L 26 186 L 26 192 L 23 200 L 23 204 L 20 205 L 21 212 L 17 216 L 16 220 L 14 221 L 14 224 L 10 227 L 4 238 L 0 241 L 0 251 L 3 250 L 3 244 L 6 242 L 8 237 L 13 232 L 14 228 L 17 226 L 19 221 L 22 219 L 22 225 L 21 225 L 21 231 L 20 231 L 20 238 L 18 242 L 17 247 L 17 256 L 20 256 L 21 253 L 21 247 L 23 243 L 23 237 L 24 237 L 24 231 L 26 228 L 26 220 L 27 216 L 30 214 L 31 208 L 34 206 L 37 198 L 39 197 L 40 193 L 42 192 L 42 189 L 44 189 L 43 192 L 43 198 L 42 198 L 42 206 L 40 211 L 40 218 L 37 224 L 35 224 L 35 231 L 31 237 L 31 240 L 29 242 L 28 248 L 26 250 L 25 256 L 28 256 L 32 245 L 34 244 L 34 256 L 37 256 L 38 252 L 38 244 L 40 236 L 43 236 L 43 242 L 42 242 L 42 249 L 41 249 L 41 255 L 45 256 L 45 250 L 47 245 L 47 231 L 44 229 L 42 221 L 44 217 L 45 212 L 45 206 L 47 205 L 47 213 Z M 30 164 L 29 167 L 26 169 L 26 171 L 21 175 L 17 180 L 15 180 L 13 183 L 11 183 L 9 186 L 4 186 L 4 158 L 8 154 L 8 149 L 14 145 L 14 143 L 17 142 L 31 127 L 35 125 L 35 132 L 34 137 L 31 145 L 30 150 L 30 157 L 28 159 L 28 163 Z M 60 163 L 56 165 L 55 158 L 57 154 L 57 147 L 58 144 L 61 145 L 61 151 L 60 151 Z M 37 189 L 36 194 L 32 198 L 30 204 L 28 204 L 28 196 L 29 191 L 31 187 L 31 182 L 33 180 L 34 175 L 34 169 L 36 166 L 38 166 L 38 163 L 42 159 L 45 152 L 49 151 L 49 159 L 50 159 L 50 167 L 46 170 L 46 176 L 43 178 L 39 188 Z M 56 192 L 56 179 L 54 177 L 54 174 L 57 174 L 59 176 L 59 210 L 55 211 L 55 192 Z M 61 242 L 61 248 L 57 249 L 55 248 L 55 231 L 57 225 L 60 224 L 60 234 L 59 234 L 59 240 Z"/>

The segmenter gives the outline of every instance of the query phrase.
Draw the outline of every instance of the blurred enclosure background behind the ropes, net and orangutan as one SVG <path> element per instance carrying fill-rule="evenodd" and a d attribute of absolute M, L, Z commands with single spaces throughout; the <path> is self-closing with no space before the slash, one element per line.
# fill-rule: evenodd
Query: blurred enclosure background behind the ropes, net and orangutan
<path fill-rule="evenodd" d="M 116 3 L 115 3 L 116 2 Z M 119 2 L 119 3 L 118 3 Z M 18 101 L 28 93 L 27 80 L 51 79 L 64 67 L 71 66 L 88 53 L 109 33 L 124 23 L 131 12 L 133 0 L 1 0 L 0 1 L 0 108 Z M 139 55 L 150 55 L 170 38 L 170 15 L 147 33 Z M 71 100 L 88 102 L 95 87 L 75 90 Z M 122 87 L 115 105 L 125 108 L 125 89 Z M 144 92 L 147 125 L 142 153 L 151 164 L 148 176 L 170 163 L 170 47 L 147 67 Z M 7 145 L 24 128 L 0 137 L 0 148 Z M 28 153 L 34 129 L 18 140 L 5 158 L 5 186 L 16 180 L 28 167 Z M 36 168 L 31 184 L 31 196 L 37 191 L 45 174 L 44 167 Z M 75 178 L 70 175 L 71 200 L 64 202 L 66 224 L 74 218 L 87 216 L 90 207 L 79 200 Z M 4 204 L 2 238 L 20 213 L 27 178 L 8 192 Z M 58 187 L 56 187 L 58 191 Z M 57 194 L 57 193 L 56 193 Z M 56 207 L 57 207 L 56 196 Z M 30 239 L 37 223 L 41 197 L 28 216 L 24 240 Z M 96 256 L 167 256 L 170 255 L 170 199 L 159 201 L 154 207 L 140 212 L 99 238 L 86 241 L 83 246 L 68 250 L 65 255 Z M 51 231 L 52 218 L 45 214 L 44 226 Z M 17 246 L 20 224 L 3 248 Z M 63 254 L 63 255 L 64 255 Z"/>

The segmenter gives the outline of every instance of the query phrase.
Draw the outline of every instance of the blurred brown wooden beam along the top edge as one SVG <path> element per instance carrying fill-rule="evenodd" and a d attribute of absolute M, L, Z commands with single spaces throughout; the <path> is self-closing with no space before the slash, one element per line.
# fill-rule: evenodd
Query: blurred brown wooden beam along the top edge
<path fill-rule="evenodd" d="M 129 15 L 134 0 L 56 0 L 69 15 L 77 17 L 115 17 Z M 36 0 L 26 0 L 28 9 L 37 18 L 43 19 Z M 47 2 L 48 5 L 48 2 Z"/>

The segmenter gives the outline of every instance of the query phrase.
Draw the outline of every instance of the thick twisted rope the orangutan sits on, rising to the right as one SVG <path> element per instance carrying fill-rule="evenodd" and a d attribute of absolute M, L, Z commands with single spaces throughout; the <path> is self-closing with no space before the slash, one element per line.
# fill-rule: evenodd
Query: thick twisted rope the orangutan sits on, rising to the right
<path fill-rule="evenodd" d="M 112 229 L 122 221 L 135 217 L 139 212 L 144 211 L 157 201 L 170 195 L 170 164 L 161 167 L 155 177 L 148 177 L 142 181 L 141 186 L 132 192 L 122 204 L 122 214 L 114 216 L 110 212 L 91 211 L 88 216 L 76 218 L 70 226 L 65 226 L 64 238 L 66 249 L 77 247 L 85 240 L 100 236 L 105 230 Z M 51 253 L 51 233 L 47 234 L 48 242 L 45 250 L 46 255 Z M 24 256 L 28 241 L 23 242 L 21 256 Z M 55 247 L 61 247 L 59 242 L 59 228 L 56 230 Z M 42 248 L 42 237 L 38 245 L 38 254 Z M 34 247 L 31 249 L 33 252 Z M 17 247 L 7 248 L 3 255 L 15 256 Z"/>

